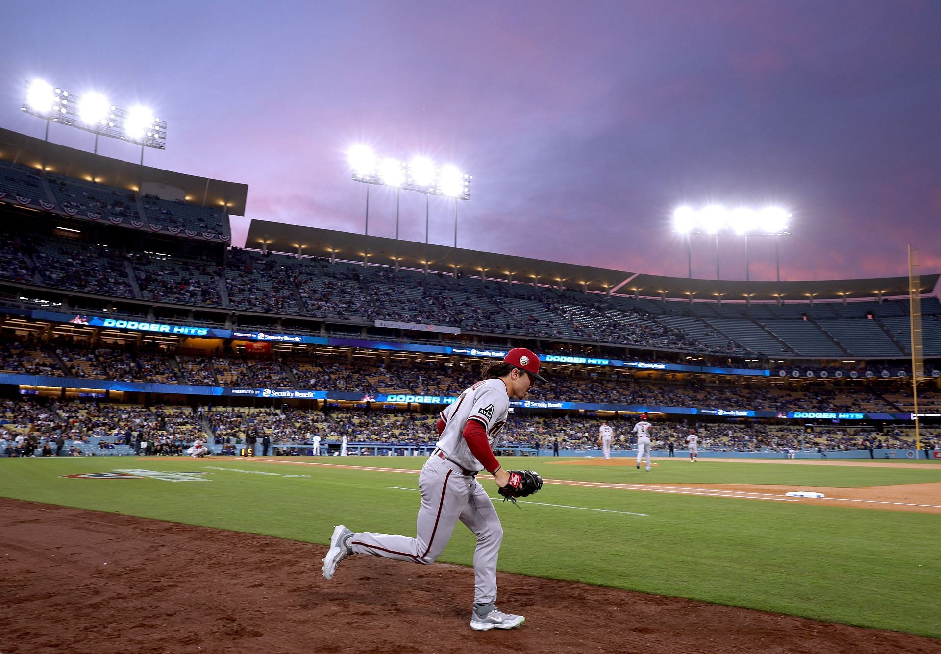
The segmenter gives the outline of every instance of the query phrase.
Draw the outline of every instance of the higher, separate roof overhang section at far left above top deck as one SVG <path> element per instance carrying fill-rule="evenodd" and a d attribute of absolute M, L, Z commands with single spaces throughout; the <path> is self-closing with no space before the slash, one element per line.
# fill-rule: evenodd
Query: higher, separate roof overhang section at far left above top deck
<path fill-rule="evenodd" d="M 76 150 L 2 128 L 0 159 L 129 190 L 137 190 L 142 183 L 164 184 L 181 189 L 192 204 L 215 207 L 225 205 L 230 215 L 245 215 L 248 184 L 140 166 L 135 162 Z"/>

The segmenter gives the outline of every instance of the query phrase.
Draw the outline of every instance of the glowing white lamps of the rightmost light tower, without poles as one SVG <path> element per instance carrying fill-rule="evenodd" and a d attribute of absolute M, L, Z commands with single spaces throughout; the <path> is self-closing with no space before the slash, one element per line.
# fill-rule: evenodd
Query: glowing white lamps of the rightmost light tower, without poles
<path fill-rule="evenodd" d="M 719 204 L 710 204 L 696 211 L 692 207 L 681 206 L 673 213 L 673 229 L 681 234 L 774 236 L 790 233 L 789 218 L 787 210 L 780 207 L 765 207 L 758 211 L 738 207 L 729 211 Z"/>

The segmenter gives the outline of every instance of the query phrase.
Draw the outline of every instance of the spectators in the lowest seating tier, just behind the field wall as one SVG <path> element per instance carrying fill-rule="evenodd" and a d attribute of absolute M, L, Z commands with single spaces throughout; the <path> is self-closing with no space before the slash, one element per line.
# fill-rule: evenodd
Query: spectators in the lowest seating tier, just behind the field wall
<path fill-rule="evenodd" d="M 558 442 L 563 450 L 598 449 L 597 416 L 511 414 L 501 445 L 549 450 Z M 392 407 L 372 410 L 326 410 L 238 407 L 175 407 L 107 404 L 89 401 L 0 401 L 2 455 L 87 455 L 122 446 L 142 455 L 179 455 L 195 440 L 223 445 L 234 454 L 236 446 L 254 435 L 273 444 L 339 442 L 392 443 L 431 446 L 438 439 L 437 412 L 404 411 Z M 631 427 L 636 417 L 614 417 L 614 448 L 631 449 Z M 783 423 L 689 423 L 654 421 L 651 440 L 655 450 L 685 449 L 694 431 L 703 451 L 814 452 L 834 450 L 913 449 L 914 430 L 907 426 L 882 431 L 872 426 L 814 426 Z M 941 427 L 921 430 L 923 447 L 941 447 Z"/>

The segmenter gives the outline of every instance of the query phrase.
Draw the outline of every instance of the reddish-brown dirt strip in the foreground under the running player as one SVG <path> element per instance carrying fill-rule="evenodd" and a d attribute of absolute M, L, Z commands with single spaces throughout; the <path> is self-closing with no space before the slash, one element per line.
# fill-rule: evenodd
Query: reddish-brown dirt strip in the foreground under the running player
<path fill-rule="evenodd" d="M 941 641 L 500 574 L 517 630 L 468 627 L 469 567 L 0 499 L 0 651 L 938 652 Z"/>

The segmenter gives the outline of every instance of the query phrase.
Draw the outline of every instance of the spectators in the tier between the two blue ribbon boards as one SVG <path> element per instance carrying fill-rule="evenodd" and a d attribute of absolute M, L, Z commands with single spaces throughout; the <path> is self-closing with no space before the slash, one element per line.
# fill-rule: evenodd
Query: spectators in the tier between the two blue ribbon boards
<path fill-rule="evenodd" d="M 183 382 L 188 384 L 344 391 L 363 397 L 379 393 L 455 396 L 479 374 L 476 364 L 470 361 L 354 358 L 351 362 L 345 357 L 211 354 L 175 356 L 168 351 L 122 349 L 112 344 L 91 346 L 77 340 L 42 343 L 35 338 L 5 339 L 0 341 L 0 369 L 63 376 L 66 373 L 57 363 L 59 359 L 68 375 L 79 378 L 173 384 L 180 382 L 179 365 Z M 647 407 L 891 413 L 908 408 L 907 404 L 902 408 L 899 399 L 906 393 L 899 393 L 897 383 L 891 380 L 648 379 L 623 370 L 563 367 L 553 371 L 552 383 L 534 385 L 528 399 Z M 931 391 L 925 391 L 925 395 L 926 407 L 941 402 Z"/>

